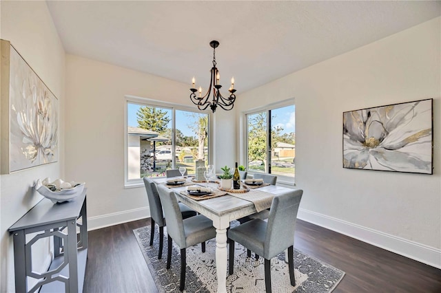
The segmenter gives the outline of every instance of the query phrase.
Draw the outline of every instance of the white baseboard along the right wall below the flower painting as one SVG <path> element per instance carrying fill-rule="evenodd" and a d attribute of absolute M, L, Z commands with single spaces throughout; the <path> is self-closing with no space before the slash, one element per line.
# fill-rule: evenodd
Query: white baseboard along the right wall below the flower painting
<path fill-rule="evenodd" d="M 298 219 L 441 269 L 441 250 L 300 208 Z"/>

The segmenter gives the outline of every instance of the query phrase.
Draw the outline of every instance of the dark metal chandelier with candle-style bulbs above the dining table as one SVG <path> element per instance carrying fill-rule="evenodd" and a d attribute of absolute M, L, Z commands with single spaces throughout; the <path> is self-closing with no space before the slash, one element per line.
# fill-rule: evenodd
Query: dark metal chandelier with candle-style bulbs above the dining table
<path fill-rule="evenodd" d="M 199 110 L 205 110 L 207 109 L 207 107 L 210 107 L 210 109 L 212 109 L 214 113 L 214 111 L 216 111 L 216 108 L 219 106 L 222 109 L 229 111 L 233 109 L 234 101 L 236 100 L 236 95 L 234 94 L 234 92 L 236 91 L 236 89 L 234 89 L 234 77 L 232 78 L 232 85 L 228 89 L 229 97 L 224 98 L 220 94 L 220 88 L 222 87 L 222 85 L 219 85 L 220 74 L 218 68 L 216 67 L 216 47 L 219 46 L 219 42 L 211 41 L 209 42 L 209 45 L 213 48 L 213 67 L 210 70 L 212 76 L 209 80 L 207 93 L 202 96 L 202 87 L 199 87 L 199 90 L 194 88 L 195 79 L 193 77 L 193 87 L 190 89 L 190 91 L 192 91 L 192 94 L 190 94 L 190 100 L 192 100 L 194 105 L 198 106 Z M 199 96 L 196 96 L 196 91 L 199 91 Z M 211 95 L 212 100 L 210 100 Z"/>

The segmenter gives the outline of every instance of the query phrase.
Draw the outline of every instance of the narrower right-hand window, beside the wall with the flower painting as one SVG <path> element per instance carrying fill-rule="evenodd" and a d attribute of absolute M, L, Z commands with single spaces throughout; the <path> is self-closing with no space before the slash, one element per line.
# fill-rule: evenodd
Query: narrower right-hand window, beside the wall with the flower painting
<path fill-rule="evenodd" d="M 294 105 L 247 113 L 247 170 L 271 173 L 294 183 L 296 131 Z"/>

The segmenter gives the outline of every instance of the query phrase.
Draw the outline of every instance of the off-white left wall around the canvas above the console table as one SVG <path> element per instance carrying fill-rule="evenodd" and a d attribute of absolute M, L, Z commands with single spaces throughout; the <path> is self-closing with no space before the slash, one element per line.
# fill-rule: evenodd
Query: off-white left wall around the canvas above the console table
<path fill-rule="evenodd" d="M 63 177 L 65 52 L 45 1 L 1 1 L 0 7 L 1 39 L 6 39 L 14 45 L 34 72 L 37 72 L 57 96 L 60 113 L 59 161 L 0 176 L 0 292 L 14 292 L 13 246 L 8 228 L 43 198 L 32 189 L 35 180 Z M 37 268 L 38 263 L 45 261 L 47 255 L 37 255 L 41 258 L 35 263 Z"/>

